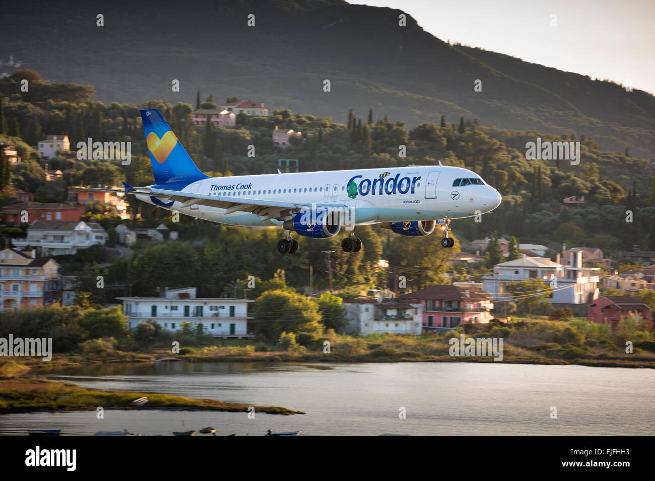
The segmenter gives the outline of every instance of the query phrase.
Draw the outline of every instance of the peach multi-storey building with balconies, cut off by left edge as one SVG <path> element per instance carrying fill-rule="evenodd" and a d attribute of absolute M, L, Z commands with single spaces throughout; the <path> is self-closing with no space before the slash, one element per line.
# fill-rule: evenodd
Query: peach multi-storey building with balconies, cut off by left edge
<path fill-rule="evenodd" d="M 60 265 L 34 249 L 0 251 L 0 312 L 40 307 L 57 298 Z"/>

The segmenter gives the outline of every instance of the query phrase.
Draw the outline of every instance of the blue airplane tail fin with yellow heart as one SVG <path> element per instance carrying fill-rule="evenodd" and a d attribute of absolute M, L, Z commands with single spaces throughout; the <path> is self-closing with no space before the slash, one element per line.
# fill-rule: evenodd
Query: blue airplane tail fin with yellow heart
<path fill-rule="evenodd" d="M 208 178 L 193 163 L 157 109 L 142 110 L 141 120 L 157 185 L 183 188 Z"/>

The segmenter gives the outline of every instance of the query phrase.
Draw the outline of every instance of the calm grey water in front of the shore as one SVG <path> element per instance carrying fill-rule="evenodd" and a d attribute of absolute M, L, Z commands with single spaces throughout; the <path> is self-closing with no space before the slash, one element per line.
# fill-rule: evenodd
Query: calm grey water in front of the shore
<path fill-rule="evenodd" d="M 168 393 L 307 414 L 121 411 L 6 414 L 0 435 L 62 429 L 172 435 L 211 425 L 217 434 L 652 435 L 655 371 L 504 363 L 143 363 L 59 368 L 52 380 Z M 557 419 L 550 419 L 550 408 Z M 406 419 L 400 419 L 404 407 Z"/>

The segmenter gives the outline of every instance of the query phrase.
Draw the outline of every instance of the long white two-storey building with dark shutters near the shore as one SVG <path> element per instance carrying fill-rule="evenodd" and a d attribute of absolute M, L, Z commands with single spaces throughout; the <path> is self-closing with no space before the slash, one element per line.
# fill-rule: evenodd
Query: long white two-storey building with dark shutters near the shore
<path fill-rule="evenodd" d="M 248 303 L 250 299 L 196 297 L 195 287 L 166 289 L 160 297 L 117 297 L 130 328 L 155 321 L 162 329 L 178 330 L 181 323 L 202 325 L 204 332 L 219 338 L 250 338 Z"/>

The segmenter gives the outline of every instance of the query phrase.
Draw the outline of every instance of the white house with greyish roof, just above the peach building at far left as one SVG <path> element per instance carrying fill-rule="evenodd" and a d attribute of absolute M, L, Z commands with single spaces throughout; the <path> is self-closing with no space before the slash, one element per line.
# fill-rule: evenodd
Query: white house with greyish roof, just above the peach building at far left
<path fill-rule="evenodd" d="M 34 247 L 42 256 L 75 254 L 77 249 L 105 245 L 107 232 L 96 223 L 84 221 L 34 221 L 28 237 L 14 239 L 16 247 Z"/>

